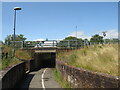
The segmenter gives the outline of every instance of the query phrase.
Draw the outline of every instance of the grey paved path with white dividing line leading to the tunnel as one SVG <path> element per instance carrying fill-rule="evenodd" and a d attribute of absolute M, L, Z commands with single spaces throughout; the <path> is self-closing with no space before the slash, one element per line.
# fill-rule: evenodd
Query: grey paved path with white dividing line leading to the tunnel
<path fill-rule="evenodd" d="M 30 72 L 20 88 L 61 88 L 58 82 L 55 81 L 53 70 L 50 68 L 40 69 L 38 71 Z"/>

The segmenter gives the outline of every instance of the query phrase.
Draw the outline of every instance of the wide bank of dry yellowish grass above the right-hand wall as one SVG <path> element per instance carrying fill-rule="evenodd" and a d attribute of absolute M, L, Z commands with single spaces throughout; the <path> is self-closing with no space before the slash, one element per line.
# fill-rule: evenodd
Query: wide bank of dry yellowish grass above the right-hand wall
<path fill-rule="evenodd" d="M 68 65 L 118 76 L 118 45 L 96 45 L 57 54 Z"/>

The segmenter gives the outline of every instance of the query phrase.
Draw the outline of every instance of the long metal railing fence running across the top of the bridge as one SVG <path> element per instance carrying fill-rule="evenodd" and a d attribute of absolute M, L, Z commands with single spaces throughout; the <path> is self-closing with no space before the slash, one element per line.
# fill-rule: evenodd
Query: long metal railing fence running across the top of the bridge
<path fill-rule="evenodd" d="M 82 48 L 96 44 L 116 44 L 119 40 L 104 40 L 103 42 L 90 42 L 88 40 L 48 40 L 48 41 L 15 41 L 16 48 L 37 48 L 37 47 L 65 47 Z M 9 42 L 13 47 L 13 41 Z"/>

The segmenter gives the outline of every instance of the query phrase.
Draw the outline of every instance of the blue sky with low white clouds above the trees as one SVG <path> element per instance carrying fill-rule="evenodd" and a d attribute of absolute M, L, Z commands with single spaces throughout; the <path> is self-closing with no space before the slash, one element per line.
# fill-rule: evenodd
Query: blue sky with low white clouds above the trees
<path fill-rule="evenodd" d="M 14 7 L 16 34 L 27 40 L 61 40 L 67 36 L 88 38 L 95 34 L 118 37 L 117 2 L 3 2 L 2 40 L 13 34 Z M 76 28 L 77 26 L 77 28 Z"/>

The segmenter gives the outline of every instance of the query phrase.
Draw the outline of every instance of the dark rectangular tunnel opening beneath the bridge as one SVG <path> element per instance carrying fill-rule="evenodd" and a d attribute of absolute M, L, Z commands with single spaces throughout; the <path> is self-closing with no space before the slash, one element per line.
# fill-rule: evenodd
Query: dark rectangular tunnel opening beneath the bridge
<path fill-rule="evenodd" d="M 56 53 L 35 53 L 35 68 L 55 68 Z"/>

